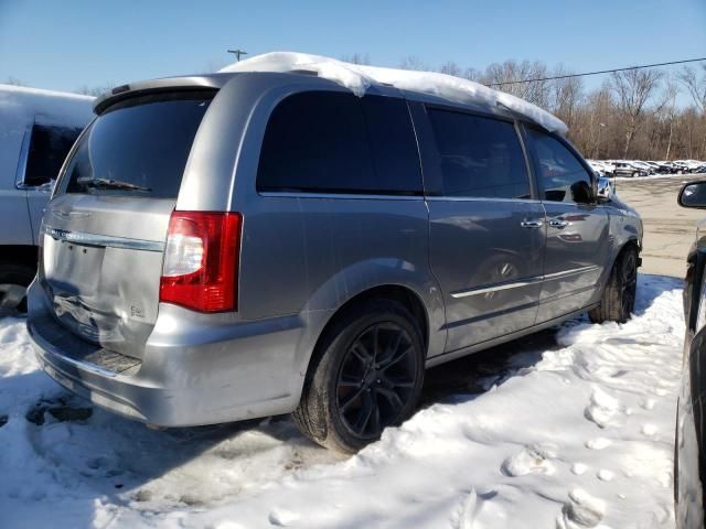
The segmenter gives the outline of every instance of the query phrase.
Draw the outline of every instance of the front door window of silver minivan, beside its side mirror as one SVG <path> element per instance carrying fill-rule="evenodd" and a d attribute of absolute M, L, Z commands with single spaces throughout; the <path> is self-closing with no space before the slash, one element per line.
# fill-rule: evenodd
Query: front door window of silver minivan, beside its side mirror
<path fill-rule="evenodd" d="M 535 153 L 537 177 L 545 199 L 590 202 L 591 177 L 571 151 L 543 132 L 530 130 L 527 136 Z"/>

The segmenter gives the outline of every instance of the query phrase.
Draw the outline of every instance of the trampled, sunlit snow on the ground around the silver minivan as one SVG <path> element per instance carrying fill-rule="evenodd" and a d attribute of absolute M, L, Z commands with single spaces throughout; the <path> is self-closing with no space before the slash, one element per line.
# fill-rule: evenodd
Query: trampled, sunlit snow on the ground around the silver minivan
<path fill-rule="evenodd" d="M 353 457 L 286 418 L 152 431 L 38 370 L 0 321 L 0 526 L 673 527 L 681 282 L 428 373 L 425 408 Z M 446 387 L 446 389 L 445 389 Z"/>

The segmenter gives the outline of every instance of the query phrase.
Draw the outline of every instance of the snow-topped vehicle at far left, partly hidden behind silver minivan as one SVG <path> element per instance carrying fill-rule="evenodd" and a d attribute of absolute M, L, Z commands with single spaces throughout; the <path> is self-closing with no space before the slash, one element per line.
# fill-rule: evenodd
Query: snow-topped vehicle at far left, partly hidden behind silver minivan
<path fill-rule="evenodd" d="M 92 97 L 0 85 L 0 312 L 25 310 L 42 213 Z"/>

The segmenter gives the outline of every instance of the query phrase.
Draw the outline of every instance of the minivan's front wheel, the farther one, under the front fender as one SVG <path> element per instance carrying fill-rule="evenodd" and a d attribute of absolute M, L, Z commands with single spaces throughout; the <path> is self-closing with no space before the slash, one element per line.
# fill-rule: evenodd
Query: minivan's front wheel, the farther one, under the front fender
<path fill-rule="evenodd" d="M 630 320 L 635 306 L 637 290 L 638 249 L 634 246 L 628 246 L 616 259 L 600 304 L 588 311 L 589 320 L 592 323 L 625 323 Z"/>

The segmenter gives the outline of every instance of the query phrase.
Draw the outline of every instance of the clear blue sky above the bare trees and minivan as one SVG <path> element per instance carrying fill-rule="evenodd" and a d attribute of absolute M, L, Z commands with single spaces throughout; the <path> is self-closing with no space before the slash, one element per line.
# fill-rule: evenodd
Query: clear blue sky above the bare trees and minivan
<path fill-rule="evenodd" d="M 585 72 L 706 56 L 706 0 L 0 0 L 0 82 L 71 90 L 204 72 L 226 64 L 228 47 Z"/>

